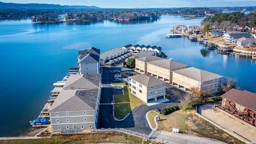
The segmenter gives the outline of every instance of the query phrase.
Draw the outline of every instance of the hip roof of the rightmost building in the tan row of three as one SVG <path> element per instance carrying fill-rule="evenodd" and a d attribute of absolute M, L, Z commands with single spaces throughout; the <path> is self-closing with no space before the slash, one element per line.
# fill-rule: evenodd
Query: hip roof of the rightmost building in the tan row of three
<path fill-rule="evenodd" d="M 191 78 L 193 80 L 197 80 L 199 82 L 206 82 L 209 80 L 223 77 L 218 74 L 214 74 L 212 72 L 208 72 L 205 70 L 200 70 L 200 69 L 194 68 L 194 67 L 185 68 L 185 69 L 181 69 L 181 70 L 174 70 L 173 72 L 175 72 L 177 74 L 181 74 L 181 75 Z"/>

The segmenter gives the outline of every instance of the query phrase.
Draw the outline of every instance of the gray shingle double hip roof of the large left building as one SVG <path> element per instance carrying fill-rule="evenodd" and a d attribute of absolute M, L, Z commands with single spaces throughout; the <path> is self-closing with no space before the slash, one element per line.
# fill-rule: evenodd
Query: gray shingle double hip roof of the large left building
<path fill-rule="evenodd" d="M 95 110 L 100 74 L 70 75 L 49 112 Z"/>

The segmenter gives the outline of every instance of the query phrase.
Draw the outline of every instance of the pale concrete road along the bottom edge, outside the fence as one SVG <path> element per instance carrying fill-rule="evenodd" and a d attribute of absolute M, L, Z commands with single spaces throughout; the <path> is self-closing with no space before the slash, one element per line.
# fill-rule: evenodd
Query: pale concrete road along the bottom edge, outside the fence
<path fill-rule="evenodd" d="M 156 131 L 150 139 L 163 142 L 164 144 L 225 144 L 224 142 L 208 138 L 174 134 L 163 131 Z"/>

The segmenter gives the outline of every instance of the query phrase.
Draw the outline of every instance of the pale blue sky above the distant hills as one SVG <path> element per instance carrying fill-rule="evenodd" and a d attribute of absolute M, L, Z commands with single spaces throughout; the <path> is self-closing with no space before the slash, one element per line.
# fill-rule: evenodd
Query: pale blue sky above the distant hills
<path fill-rule="evenodd" d="M 180 8 L 256 6 L 256 0 L 0 0 L 18 4 L 60 4 L 98 6 L 100 8 Z"/>

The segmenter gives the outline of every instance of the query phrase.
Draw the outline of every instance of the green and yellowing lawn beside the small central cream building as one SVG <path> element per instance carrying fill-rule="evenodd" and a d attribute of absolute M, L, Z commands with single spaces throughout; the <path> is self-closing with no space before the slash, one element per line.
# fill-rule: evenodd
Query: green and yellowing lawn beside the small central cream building
<path fill-rule="evenodd" d="M 120 84 L 119 84 L 120 85 Z M 124 95 L 115 95 L 115 117 L 124 118 L 129 112 L 141 104 L 145 104 L 142 100 L 128 92 L 128 86 L 124 85 Z"/>

